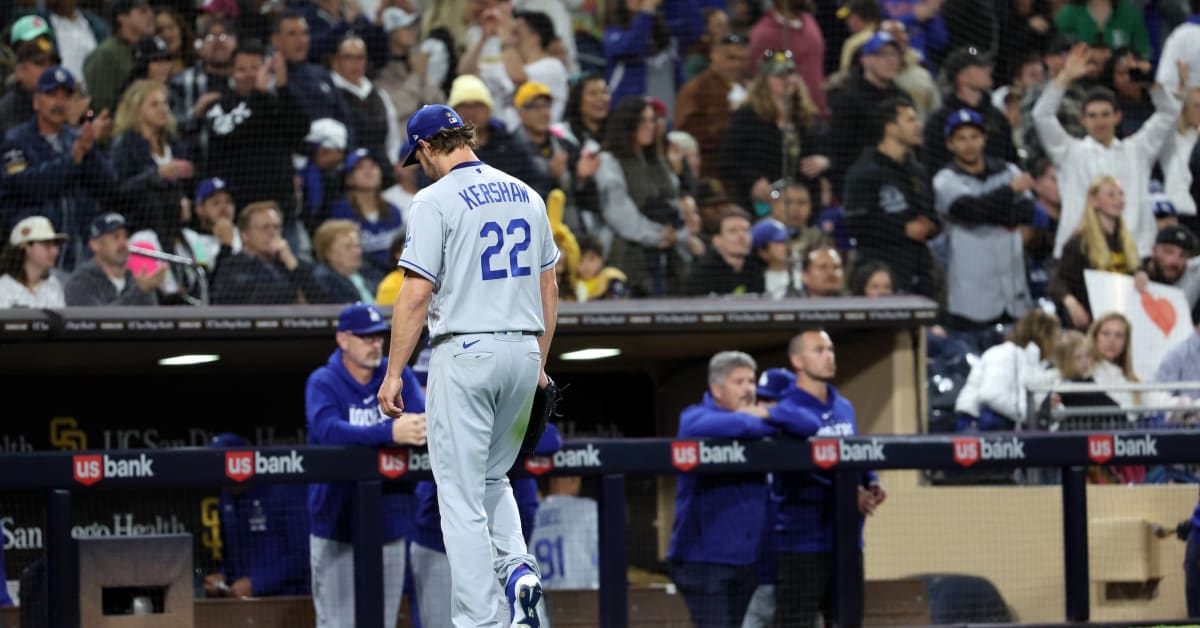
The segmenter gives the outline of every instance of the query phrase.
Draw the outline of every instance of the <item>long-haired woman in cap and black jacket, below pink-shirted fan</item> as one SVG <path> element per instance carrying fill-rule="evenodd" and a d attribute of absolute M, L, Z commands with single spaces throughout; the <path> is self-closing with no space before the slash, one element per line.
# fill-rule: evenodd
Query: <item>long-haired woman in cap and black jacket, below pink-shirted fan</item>
<path fill-rule="evenodd" d="M 733 112 L 716 159 L 738 204 L 764 216 L 770 184 L 779 179 L 803 181 L 812 198 L 821 198 L 820 178 L 829 159 L 816 143 L 817 113 L 791 53 L 768 50 L 745 103 Z"/>

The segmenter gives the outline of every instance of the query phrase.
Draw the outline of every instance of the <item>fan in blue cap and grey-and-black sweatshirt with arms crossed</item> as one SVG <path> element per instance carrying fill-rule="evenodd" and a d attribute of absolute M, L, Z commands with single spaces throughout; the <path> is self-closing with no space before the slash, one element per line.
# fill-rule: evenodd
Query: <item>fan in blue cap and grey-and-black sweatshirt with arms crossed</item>
<path fill-rule="evenodd" d="M 954 161 L 934 177 L 934 203 L 947 225 L 946 324 L 980 352 L 1001 340 L 997 324 L 1033 304 L 1018 229 L 1033 223 L 1033 178 L 988 156 L 986 143 L 979 113 L 952 113 L 944 144 Z"/>

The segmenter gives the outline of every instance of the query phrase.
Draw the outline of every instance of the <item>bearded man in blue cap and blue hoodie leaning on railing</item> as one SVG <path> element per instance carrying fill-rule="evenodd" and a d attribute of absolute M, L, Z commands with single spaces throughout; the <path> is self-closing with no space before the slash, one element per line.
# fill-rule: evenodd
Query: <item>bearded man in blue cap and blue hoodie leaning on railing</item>
<path fill-rule="evenodd" d="M 337 317 L 337 351 L 308 376 L 305 411 L 308 444 L 389 447 L 425 444 L 425 394 L 416 376 L 403 369 L 404 414 L 389 419 L 376 391 L 388 371 L 383 340 L 388 322 L 379 309 L 354 304 Z M 348 483 L 308 486 L 312 525 L 312 602 L 317 626 L 354 626 L 354 545 L 350 521 L 354 488 Z M 384 617 L 395 622 L 404 590 L 404 539 L 413 534 L 415 497 L 389 492 L 383 498 Z"/>

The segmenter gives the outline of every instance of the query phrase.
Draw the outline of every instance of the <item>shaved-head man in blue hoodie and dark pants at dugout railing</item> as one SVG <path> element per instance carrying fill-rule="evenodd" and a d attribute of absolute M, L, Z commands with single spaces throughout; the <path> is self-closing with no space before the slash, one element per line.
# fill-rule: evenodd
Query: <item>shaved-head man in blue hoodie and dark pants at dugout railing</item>
<path fill-rule="evenodd" d="M 787 346 L 787 358 L 796 371 L 796 387 L 779 399 L 770 423 L 800 438 L 853 436 L 858 430 L 854 407 L 829 384 L 838 373 L 829 334 L 817 329 L 797 335 Z M 779 561 L 775 626 L 812 626 L 818 615 L 832 626 L 836 620 L 833 477 L 824 472 L 776 473 L 770 494 Z M 864 473 L 859 513 L 874 513 L 886 497 L 875 473 Z M 859 531 L 862 524 L 859 519 Z"/>

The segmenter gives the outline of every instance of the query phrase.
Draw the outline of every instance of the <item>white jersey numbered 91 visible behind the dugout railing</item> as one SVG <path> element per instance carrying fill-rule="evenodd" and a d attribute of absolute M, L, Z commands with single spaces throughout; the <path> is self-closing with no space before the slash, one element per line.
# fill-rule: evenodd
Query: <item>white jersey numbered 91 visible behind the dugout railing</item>
<path fill-rule="evenodd" d="M 595 500 L 569 495 L 542 500 L 529 539 L 541 570 L 541 586 L 600 588 L 599 539 Z"/>

